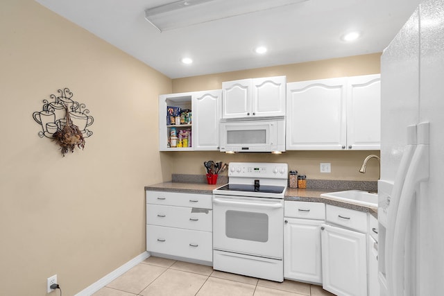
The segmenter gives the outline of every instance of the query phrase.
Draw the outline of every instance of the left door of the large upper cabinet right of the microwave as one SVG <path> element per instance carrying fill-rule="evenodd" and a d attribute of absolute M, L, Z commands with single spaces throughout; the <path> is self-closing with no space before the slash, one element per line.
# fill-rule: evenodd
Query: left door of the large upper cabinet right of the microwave
<path fill-rule="evenodd" d="M 346 78 L 287 84 L 287 150 L 346 148 Z"/>

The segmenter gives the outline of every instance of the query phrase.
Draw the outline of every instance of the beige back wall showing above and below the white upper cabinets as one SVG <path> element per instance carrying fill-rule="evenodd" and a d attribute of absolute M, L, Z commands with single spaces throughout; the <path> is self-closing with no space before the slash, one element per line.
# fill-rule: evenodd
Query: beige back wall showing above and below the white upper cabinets
<path fill-rule="evenodd" d="M 357 76 L 380 73 L 380 53 L 358 55 L 348 58 L 287 64 L 277 67 L 250 69 L 217 73 L 205 76 L 173 79 L 173 92 L 194 92 L 198 90 L 221 89 L 223 81 L 268 76 L 287 76 L 287 82 Z M 287 151 L 282 155 L 270 153 L 239 153 L 226 155 L 219 152 L 164 153 L 173 157 L 174 173 L 203 174 L 204 160 L 223 162 L 287 162 L 289 168 L 296 169 L 307 178 L 321 180 L 370 180 L 379 178 L 379 163 L 368 162 L 367 173 L 358 172 L 364 158 L 379 151 Z M 320 173 L 320 163 L 330 162 L 332 173 Z"/>

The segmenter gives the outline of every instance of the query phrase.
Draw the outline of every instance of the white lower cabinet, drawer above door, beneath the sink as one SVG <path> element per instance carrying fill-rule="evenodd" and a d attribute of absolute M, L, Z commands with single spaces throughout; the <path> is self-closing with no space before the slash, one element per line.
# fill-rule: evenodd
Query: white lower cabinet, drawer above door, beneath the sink
<path fill-rule="evenodd" d="M 321 226 L 323 288 L 339 296 L 366 296 L 367 214 L 327 204 L 326 216 L 330 225 Z"/>

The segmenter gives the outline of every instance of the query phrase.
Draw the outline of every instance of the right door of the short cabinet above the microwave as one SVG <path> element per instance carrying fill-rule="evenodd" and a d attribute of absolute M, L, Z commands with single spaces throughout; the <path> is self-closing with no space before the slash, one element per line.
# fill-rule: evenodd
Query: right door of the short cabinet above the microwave
<path fill-rule="evenodd" d="M 255 78 L 252 84 L 252 115 L 285 116 L 287 76 Z"/>

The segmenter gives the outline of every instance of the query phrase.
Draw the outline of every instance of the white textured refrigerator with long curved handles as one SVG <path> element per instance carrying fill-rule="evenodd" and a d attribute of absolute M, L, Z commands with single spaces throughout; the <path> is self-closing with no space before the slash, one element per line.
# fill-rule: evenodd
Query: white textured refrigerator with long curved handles
<path fill-rule="evenodd" d="M 381 296 L 444 295 L 444 1 L 422 1 L 381 58 Z"/>

